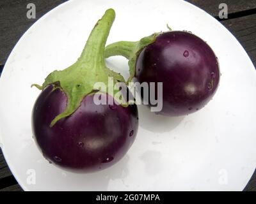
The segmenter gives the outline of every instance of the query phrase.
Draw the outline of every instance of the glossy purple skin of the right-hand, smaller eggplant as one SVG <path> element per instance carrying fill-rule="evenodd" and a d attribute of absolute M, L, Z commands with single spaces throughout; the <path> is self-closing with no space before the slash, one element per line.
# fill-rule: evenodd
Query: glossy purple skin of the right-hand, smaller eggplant
<path fill-rule="evenodd" d="M 212 99 L 220 69 L 205 41 L 188 32 L 170 31 L 143 48 L 135 77 L 140 83 L 163 82 L 163 109 L 159 113 L 179 116 L 200 110 Z"/>

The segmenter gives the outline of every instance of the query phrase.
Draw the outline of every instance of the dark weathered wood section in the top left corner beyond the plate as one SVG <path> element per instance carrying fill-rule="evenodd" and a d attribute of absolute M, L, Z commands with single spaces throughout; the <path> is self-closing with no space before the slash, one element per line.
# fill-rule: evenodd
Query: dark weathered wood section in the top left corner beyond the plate
<path fill-rule="evenodd" d="M 67 0 L 1 0 L 0 64 L 4 64 L 22 34 L 42 15 Z M 36 6 L 36 19 L 28 19 L 28 3 Z"/>

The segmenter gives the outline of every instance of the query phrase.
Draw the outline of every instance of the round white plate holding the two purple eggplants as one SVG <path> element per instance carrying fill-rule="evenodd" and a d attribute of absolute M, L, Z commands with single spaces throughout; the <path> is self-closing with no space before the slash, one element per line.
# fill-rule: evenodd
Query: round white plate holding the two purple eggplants
<path fill-rule="evenodd" d="M 186 117 L 161 117 L 140 106 L 136 141 L 118 164 L 98 173 L 70 173 L 49 164 L 33 142 L 31 109 L 40 92 L 30 85 L 75 62 L 108 8 L 116 11 L 108 43 L 166 31 L 167 23 L 203 38 L 219 58 L 220 87 L 203 110 Z M 109 59 L 108 65 L 127 77 L 122 57 Z M 256 72 L 243 47 L 192 4 L 72 0 L 38 20 L 6 62 L 0 79 L 1 146 L 24 190 L 241 191 L 256 167 L 255 93 Z"/>

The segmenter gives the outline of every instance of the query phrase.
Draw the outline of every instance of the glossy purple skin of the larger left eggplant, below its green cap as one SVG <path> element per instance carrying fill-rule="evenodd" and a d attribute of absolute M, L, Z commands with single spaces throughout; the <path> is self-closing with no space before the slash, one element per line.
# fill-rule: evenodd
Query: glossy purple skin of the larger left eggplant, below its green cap
<path fill-rule="evenodd" d="M 52 91 L 52 85 L 42 91 L 33 108 L 32 127 L 48 161 L 78 172 L 103 170 L 131 147 L 138 131 L 137 106 L 95 105 L 93 96 L 86 96 L 76 112 L 50 128 L 65 110 L 67 97 L 60 89 Z"/>

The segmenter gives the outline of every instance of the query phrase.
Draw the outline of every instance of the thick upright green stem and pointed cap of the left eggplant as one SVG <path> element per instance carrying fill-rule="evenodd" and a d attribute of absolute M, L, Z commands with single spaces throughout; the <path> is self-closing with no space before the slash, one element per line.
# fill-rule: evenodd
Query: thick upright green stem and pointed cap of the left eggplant
<path fill-rule="evenodd" d="M 103 17 L 97 22 L 86 42 L 83 52 L 77 62 L 61 71 L 53 71 L 45 78 L 42 86 L 33 85 L 40 90 L 44 90 L 47 85 L 54 85 L 54 89 L 61 89 L 67 96 L 67 107 L 57 115 L 51 122 L 51 127 L 58 120 L 68 117 L 76 111 L 85 96 L 91 94 L 97 82 L 106 85 L 106 93 L 115 98 L 113 84 L 108 84 L 108 78 L 112 77 L 114 84 L 117 82 L 125 82 L 122 75 L 111 71 L 106 67 L 104 61 L 104 48 L 109 31 L 115 20 L 115 11 L 109 9 Z M 110 89 L 112 88 L 112 89 Z"/>

